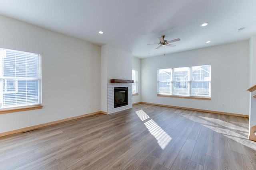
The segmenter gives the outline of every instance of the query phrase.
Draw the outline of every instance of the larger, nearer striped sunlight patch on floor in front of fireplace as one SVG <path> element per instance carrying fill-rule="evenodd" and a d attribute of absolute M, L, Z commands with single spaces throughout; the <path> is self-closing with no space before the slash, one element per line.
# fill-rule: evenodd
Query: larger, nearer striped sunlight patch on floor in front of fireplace
<path fill-rule="evenodd" d="M 144 125 L 148 128 L 151 135 L 156 138 L 158 145 L 162 149 L 164 149 L 168 145 L 168 142 L 172 140 L 172 138 L 152 119 L 145 122 Z"/>

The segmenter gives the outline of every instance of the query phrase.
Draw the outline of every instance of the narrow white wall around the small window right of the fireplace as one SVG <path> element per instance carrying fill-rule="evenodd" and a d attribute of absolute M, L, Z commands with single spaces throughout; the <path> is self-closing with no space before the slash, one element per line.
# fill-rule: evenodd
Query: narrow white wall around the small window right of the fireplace
<path fill-rule="evenodd" d="M 141 86 L 141 76 L 140 76 L 140 60 L 137 57 L 132 57 L 132 70 L 138 70 L 138 96 L 132 96 L 132 103 L 141 102 L 140 96 L 140 86 Z"/>

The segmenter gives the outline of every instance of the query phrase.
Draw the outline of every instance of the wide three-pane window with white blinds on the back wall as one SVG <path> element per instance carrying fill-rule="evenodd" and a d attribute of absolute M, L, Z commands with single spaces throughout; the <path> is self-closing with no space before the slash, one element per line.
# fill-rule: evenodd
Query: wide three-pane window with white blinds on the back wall
<path fill-rule="evenodd" d="M 158 94 L 210 97 L 210 65 L 158 70 Z"/>

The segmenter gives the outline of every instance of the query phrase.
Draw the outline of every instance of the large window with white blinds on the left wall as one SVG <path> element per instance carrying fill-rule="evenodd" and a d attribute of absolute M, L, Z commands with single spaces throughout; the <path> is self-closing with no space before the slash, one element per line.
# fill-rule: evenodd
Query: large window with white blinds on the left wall
<path fill-rule="evenodd" d="M 0 48 L 0 109 L 41 104 L 41 55 Z"/>

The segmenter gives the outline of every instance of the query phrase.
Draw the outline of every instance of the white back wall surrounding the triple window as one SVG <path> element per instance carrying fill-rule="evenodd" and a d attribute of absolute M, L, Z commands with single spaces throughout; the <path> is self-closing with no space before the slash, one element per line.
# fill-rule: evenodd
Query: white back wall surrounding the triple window
<path fill-rule="evenodd" d="M 249 42 L 141 60 L 142 102 L 248 115 Z M 212 100 L 157 97 L 157 69 L 211 64 Z M 222 107 L 222 104 L 225 107 Z"/>

